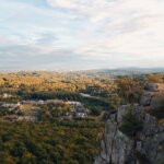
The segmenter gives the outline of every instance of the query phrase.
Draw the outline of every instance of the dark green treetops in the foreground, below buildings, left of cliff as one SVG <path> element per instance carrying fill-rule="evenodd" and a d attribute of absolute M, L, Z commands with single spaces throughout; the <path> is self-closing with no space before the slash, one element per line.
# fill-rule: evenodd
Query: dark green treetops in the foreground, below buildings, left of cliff
<path fill-rule="evenodd" d="M 1 124 L 0 163 L 92 164 L 101 129 L 90 120 Z"/>

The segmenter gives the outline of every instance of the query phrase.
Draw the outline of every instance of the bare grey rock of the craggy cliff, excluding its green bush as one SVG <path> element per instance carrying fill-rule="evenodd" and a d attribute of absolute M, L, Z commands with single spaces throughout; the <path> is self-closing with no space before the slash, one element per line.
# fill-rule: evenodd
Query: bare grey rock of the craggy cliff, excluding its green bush
<path fill-rule="evenodd" d="M 148 113 L 157 94 L 159 91 L 147 91 L 140 104 L 122 105 L 109 116 L 95 164 L 164 164 L 164 126 Z M 142 122 L 142 130 L 132 137 L 120 131 L 128 108 Z"/>

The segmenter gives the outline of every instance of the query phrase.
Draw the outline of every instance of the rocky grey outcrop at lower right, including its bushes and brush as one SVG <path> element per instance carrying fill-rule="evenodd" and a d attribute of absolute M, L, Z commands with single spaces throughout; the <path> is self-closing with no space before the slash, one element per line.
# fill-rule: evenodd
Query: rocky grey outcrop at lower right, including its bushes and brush
<path fill-rule="evenodd" d="M 139 104 L 110 114 L 101 148 L 95 164 L 163 164 L 164 84 L 150 83 Z"/>

